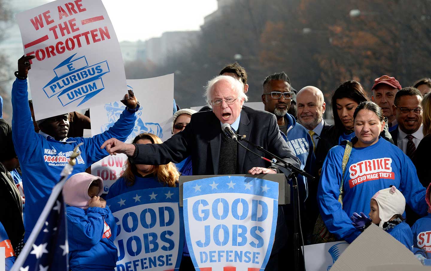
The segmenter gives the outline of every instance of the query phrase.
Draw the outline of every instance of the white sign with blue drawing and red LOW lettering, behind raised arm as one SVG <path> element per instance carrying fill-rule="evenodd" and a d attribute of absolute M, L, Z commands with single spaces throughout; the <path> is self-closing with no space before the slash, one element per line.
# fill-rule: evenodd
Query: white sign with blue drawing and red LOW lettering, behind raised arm
<path fill-rule="evenodd" d="M 174 74 L 160 77 L 127 80 L 128 89 L 133 90 L 141 110 L 137 111 L 137 120 L 133 132 L 126 142 L 130 143 L 139 134 L 148 132 L 166 141 L 172 135 L 172 104 L 174 100 Z M 91 134 L 100 134 L 119 119 L 125 106 L 112 102 L 90 108 Z M 91 174 L 103 179 L 104 193 L 122 173 L 127 161 L 125 154 L 107 156 L 91 166 Z"/>

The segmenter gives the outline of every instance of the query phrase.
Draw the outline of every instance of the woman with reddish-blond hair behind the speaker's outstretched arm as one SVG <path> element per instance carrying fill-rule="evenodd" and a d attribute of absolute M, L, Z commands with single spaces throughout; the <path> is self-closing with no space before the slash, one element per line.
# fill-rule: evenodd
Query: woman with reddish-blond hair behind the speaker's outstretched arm
<path fill-rule="evenodd" d="M 132 143 L 162 144 L 162 140 L 157 135 L 142 133 L 137 135 Z M 159 166 L 137 165 L 131 163 L 129 158 L 120 178 L 109 188 L 106 199 L 134 190 L 164 186 L 176 187 L 179 176 L 180 174 L 173 163 Z"/>

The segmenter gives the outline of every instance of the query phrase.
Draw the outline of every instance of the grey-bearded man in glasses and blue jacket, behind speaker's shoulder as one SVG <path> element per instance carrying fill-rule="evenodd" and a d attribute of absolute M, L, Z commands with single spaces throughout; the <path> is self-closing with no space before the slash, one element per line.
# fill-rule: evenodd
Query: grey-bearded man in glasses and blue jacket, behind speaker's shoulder
<path fill-rule="evenodd" d="M 312 174 L 312 164 L 315 157 L 313 154 L 313 143 L 307 130 L 296 122 L 294 116 L 287 113 L 290 108 L 290 102 L 293 92 L 290 86 L 290 79 L 286 73 L 280 72 L 271 74 L 265 78 L 263 82 L 262 102 L 265 105 L 265 111 L 275 114 L 277 118 L 278 128 L 281 135 L 294 152 L 295 156 L 301 161 L 301 169 Z M 292 185 L 291 182 L 289 182 Z M 298 191 L 300 195 L 300 208 L 303 211 L 305 208 L 305 200 L 308 197 L 307 179 L 303 176 L 298 176 Z M 293 193 L 293 189 L 291 190 Z M 293 194 L 291 197 L 293 198 Z M 302 212 L 301 211 L 301 212 Z M 285 206 L 286 220 L 288 227 L 288 242 L 293 242 L 293 204 Z M 305 216 L 303 216 L 305 218 Z M 307 231 L 303 231 L 304 236 Z M 292 247 L 290 247 L 291 249 Z M 289 249 L 289 248 L 286 248 Z M 293 253 L 287 253 L 293 255 Z"/>

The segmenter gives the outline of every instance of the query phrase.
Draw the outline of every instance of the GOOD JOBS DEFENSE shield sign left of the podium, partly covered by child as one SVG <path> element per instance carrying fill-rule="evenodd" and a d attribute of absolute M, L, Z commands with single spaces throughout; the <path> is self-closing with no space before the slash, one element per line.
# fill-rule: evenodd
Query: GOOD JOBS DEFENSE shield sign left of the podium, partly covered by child
<path fill-rule="evenodd" d="M 131 191 L 106 204 L 118 225 L 116 271 L 178 270 L 184 247 L 179 188 Z"/>

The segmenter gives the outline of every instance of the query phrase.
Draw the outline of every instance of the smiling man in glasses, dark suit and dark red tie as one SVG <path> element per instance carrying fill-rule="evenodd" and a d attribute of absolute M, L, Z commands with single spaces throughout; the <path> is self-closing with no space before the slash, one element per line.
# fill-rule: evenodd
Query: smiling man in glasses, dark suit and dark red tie
<path fill-rule="evenodd" d="M 390 134 L 394 144 L 410 158 L 413 157 L 416 147 L 424 137 L 421 102 L 421 92 L 409 86 L 397 92 L 394 105 L 392 105 L 394 115 L 397 118 L 398 129 L 390 132 Z"/>

